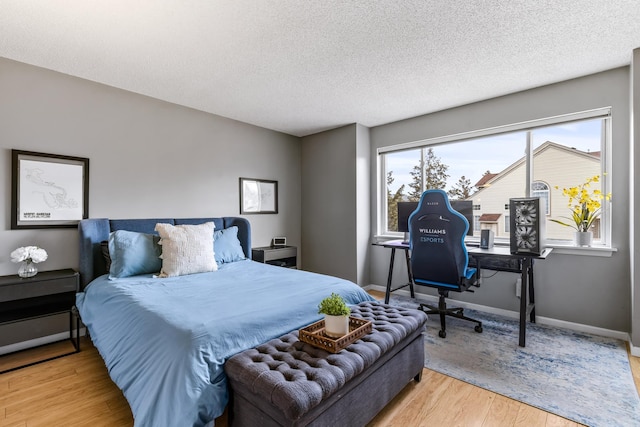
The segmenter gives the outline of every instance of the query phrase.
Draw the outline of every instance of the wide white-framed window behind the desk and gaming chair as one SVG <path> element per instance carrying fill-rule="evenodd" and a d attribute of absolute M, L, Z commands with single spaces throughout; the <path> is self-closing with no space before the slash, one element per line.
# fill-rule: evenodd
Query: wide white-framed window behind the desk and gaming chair
<path fill-rule="evenodd" d="M 426 189 L 440 188 L 453 200 L 471 200 L 474 235 L 481 218 L 501 218 L 496 240 L 509 238 L 509 199 L 540 197 L 547 219 L 570 216 L 562 189 L 600 176 L 609 192 L 607 150 L 609 109 L 514 124 L 464 135 L 418 141 L 378 150 L 381 156 L 381 232 L 393 234 L 397 202 L 417 201 Z M 594 225 L 597 243 L 608 244 L 608 209 Z M 506 210 L 505 210 L 506 209 Z M 547 221 L 547 239 L 572 241 L 573 229 Z"/>

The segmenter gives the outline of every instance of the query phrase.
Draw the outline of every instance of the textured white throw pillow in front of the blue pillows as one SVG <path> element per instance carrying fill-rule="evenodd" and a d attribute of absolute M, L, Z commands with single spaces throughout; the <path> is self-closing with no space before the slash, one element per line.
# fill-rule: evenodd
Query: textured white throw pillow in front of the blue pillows
<path fill-rule="evenodd" d="M 198 225 L 156 224 L 162 245 L 160 277 L 216 271 L 213 222 Z"/>

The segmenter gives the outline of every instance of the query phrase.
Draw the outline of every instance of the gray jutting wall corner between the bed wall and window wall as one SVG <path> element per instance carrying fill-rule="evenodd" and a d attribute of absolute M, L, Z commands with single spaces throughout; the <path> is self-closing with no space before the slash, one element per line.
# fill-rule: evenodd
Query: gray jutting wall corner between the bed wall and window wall
<path fill-rule="evenodd" d="M 305 270 L 369 284 L 369 132 L 353 124 L 302 138 Z"/>

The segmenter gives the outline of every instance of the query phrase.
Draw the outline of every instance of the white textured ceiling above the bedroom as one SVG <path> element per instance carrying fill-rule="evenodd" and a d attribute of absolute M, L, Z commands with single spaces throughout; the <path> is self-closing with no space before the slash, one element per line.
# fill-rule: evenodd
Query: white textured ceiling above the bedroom
<path fill-rule="evenodd" d="M 638 47 L 637 0 L 0 0 L 2 57 L 297 136 L 628 65 Z"/>

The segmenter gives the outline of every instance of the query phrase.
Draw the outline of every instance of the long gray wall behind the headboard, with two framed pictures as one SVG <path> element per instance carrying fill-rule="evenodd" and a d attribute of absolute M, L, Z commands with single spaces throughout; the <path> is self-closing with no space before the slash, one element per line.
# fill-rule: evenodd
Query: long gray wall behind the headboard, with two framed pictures
<path fill-rule="evenodd" d="M 0 94 L 2 275 L 24 245 L 47 250 L 42 270 L 78 265 L 75 229 L 10 230 L 11 149 L 88 157 L 91 217 L 233 216 L 239 177 L 277 180 L 279 214 L 246 216 L 253 245 L 301 243 L 297 137 L 1 58 Z"/>

